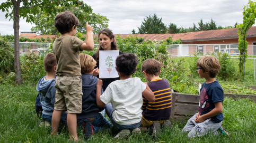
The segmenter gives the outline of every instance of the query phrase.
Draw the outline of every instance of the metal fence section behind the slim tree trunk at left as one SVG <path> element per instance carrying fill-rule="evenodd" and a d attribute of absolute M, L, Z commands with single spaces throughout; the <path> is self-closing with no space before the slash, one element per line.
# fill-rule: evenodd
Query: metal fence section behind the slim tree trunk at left
<path fill-rule="evenodd" d="M 14 48 L 14 42 L 9 42 Z M 30 54 L 35 52 L 36 54 L 43 53 L 47 51 L 51 43 L 35 43 L 35 42 L 20 42 L 20 55 Z"/>

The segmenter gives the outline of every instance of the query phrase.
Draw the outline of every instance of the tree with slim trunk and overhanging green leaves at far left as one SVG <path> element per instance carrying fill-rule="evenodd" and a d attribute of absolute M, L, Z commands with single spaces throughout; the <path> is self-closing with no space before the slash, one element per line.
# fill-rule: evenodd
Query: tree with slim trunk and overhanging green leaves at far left
<path fill-rule="evenodd" d="M 83 1 L 74 0 L 7 0 L 0 5 L 0 9 L 6 12 L 5 17 L 10 17 L 13 20 L 14 29 L 14 70 L 16 75 L 16 83 L 22 83 L 21 78 L 21 65 L 20 65 L 20 53 L 19 53 L 19 32 L 20 32 L 20 17 L 26 18 L 26 22 L 34 22 L 34 15 L 39 13 L 39 8 L 43 13 L 48 13 L 52 17 L 57 14 L 57 6 L 69 7 L 74 5 L 83 9 L 83 12 L 74 13 L 76 17 L 82 20 L 84 13 L 92 13 L 91 6 L 83 3 Z M 12 11 L 9 11 L 12 9 Z"/>

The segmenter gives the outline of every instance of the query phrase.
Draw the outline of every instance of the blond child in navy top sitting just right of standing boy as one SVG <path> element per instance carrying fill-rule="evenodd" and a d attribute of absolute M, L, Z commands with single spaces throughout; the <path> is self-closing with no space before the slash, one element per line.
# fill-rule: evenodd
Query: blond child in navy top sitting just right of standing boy
<path fill-rule="evenodd" d="M 81 73 L 82 73 L 82 113 L 76 114 L 77 125 L 82 125 L 84 128 L 85 138 L 88 139 L 92 136 L 93 132 L 96 133 L 103 127 L 112 127 L 110 121 L 105 118 L 100 111 L 105 109 L 99 108 L 96 103 L 96 91 L 103 93 L 101 87 L 96 87 L 98 78 L 92 75 L 96 61 L 92 56 L 81 53 L 80 54 Z M 100 88 L 99 90 L 96 90 Z"/>

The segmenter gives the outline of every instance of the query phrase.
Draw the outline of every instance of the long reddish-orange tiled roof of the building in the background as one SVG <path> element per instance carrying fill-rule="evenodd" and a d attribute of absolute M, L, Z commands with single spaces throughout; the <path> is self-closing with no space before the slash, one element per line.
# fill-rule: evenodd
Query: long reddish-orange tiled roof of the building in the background
<path fill-rule="evenodd" d="M 176 33 L 176 34 L 115 34 L 115 36 L 120 36 L 122 38 L 129 37 L 129 36 L 137 36 L 138 38 L 143 37 L 144 41 L 151 40 L 151 41 L 160 41 L 166 40 L 170 36 L 172 40 L 181 39 L 182 42 L 187 41 L 201 41 L 201 40 L 213 40 L 213 39 L 228 39 L 228 38 L 238 38 L 237 35 L 238 28 L 228 28 L 222 30 L 209 30 L 209 31 L 198 31 L 198 32 L 188 32 L 188 33 Z M 86 36 L 83 34 L 82 36 Z M 247 32 L 247 37 L 256 36 L 256 26 L 251 27 Z M 29 39 L 41 39 L 41 37 L 47 39 L 54 38 L 55 35 L 36 35 L 34 37 L 29 37 Z M 93 34 L 93 37 L 98 37 L 98 35 Z"/>

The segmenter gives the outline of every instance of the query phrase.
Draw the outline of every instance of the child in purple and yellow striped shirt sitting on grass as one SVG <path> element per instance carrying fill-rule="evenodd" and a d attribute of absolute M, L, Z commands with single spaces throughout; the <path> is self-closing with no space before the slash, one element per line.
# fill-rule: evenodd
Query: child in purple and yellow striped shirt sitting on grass
<path fill-rule="evenodd" d="M 150 127 L 153 136 L 161 132 L 161 125 L 171 128 L 169 121 L 172 108 L 171 89 L 167 80 L 161 79 L 161 66 L 155 59 L 147 59 L 142 64 L 148 87 L 155 95 L 155 102 L 148 101 L 143 96 L 142 124 L 140 127 Z"/>

